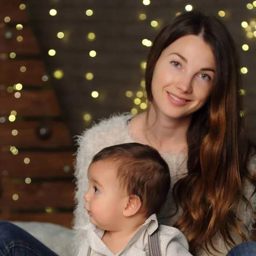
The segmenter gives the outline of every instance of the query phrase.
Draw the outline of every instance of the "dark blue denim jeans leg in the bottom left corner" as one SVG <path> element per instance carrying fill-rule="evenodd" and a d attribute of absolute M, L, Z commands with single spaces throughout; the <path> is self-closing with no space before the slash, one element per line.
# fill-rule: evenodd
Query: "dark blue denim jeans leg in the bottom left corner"
<path fill-rule="evenodd" d="M 58 255 L 15 224 L 0 221 L 0 256 Z"/>

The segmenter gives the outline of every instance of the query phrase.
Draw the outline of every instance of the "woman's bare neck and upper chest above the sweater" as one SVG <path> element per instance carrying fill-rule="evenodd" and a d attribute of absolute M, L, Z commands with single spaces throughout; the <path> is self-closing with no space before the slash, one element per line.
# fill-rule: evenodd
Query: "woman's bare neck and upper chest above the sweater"
<path fill-rule="evenodd" d="M 162 153 L 181 152 L 187 148 L 186 133 L 190 121 L 188 117 L 171 119 L 158 113 L 151 105 L 148 113 L 134 118 L 131 131 L 135 141 L 151 145 Z"/>

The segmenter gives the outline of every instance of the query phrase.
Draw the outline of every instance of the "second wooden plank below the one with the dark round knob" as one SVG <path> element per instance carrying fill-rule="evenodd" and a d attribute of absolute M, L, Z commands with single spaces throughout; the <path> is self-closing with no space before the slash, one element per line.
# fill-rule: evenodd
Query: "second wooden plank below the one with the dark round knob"
<path fill-rule="evenodd" d="M 2 177 L 0 209 L 35 209 L 44 207 L 73 208 L 75 184 L 73 182 L 11 183 Z M 13 200 L 13 195 L 18 195 Z"/>

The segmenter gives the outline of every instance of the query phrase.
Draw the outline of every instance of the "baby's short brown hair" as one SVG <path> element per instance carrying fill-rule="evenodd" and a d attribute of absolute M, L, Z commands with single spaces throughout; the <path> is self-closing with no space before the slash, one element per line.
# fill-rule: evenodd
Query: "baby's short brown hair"
<path fill-rule="evenodd" d="M 117 178 L 128 195 L 137 195 L 149 217 L 158 213 L 166 201 L 171 177 L 168 164 L 158 151 L 140 143 L 125 143 L 103 148 L 91 163 L 100 160 L 117 164 Z"/>

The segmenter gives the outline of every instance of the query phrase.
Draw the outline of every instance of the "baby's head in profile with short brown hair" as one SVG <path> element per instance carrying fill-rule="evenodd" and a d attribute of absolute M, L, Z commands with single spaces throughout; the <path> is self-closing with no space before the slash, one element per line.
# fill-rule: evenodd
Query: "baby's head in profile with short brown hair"
<path fill-rule="evenodd" d="M 158 213 L 171 183 L 169 167 L 158 151 L 139 143 L 99 151 L 88 168 L 88 180 L 84 208 L 91 223 L 109 231 Z"/>

